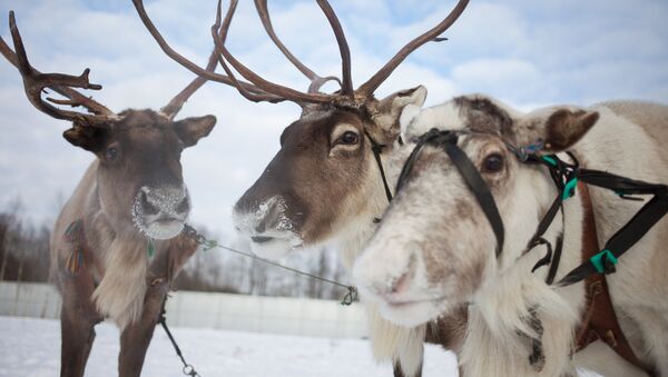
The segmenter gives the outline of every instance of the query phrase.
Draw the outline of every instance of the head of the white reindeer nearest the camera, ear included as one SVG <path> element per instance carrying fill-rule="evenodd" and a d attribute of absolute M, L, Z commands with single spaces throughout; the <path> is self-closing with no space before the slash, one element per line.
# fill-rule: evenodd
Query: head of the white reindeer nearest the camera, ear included
<path fill-rule="evenodd" d="M 490 98 L 469 96 L 403 119 L 410 123 L 404 147 L 410 150 L 432 128 L 451 130 L 449 142 L 456 142 L 493 197 L 501 235 L 442 145 L 424 145 L 355 262 L 361 291 L 381 302 L 387 319 L 411 326 L 473 300 L 487 278 L 521 256 L 557 195 L 547 170 L 521 163 L 509 146 L 540 140 L 546 153 L 563 151 L 598 117 L 568 107 L 522 115 Z"/>

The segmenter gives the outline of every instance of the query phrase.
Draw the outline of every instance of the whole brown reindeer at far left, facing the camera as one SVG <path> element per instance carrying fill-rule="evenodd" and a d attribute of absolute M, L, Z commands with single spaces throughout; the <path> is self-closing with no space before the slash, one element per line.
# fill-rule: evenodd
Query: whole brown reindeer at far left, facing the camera
<path fill-rule="evenodd" d="M 139 376 L 166 295 L 197 249 L 181 229 L 190 210 L 180 153 L 206 137 L 214 116 L 174 118 L 206 80 L 195 79 L 159 112 L 115 113 L 72 88 L 101 89 L 79 77 L 40 73 L 30 66 L 9 16 L 14 51 L 0 52 L 18 69 L 26 95 L 40 111 L 72 122 L 63 137 L 96 160 L 60 212 L 51 237 L 51 275 L 62 296 L 60 376 L 84 376 L 95 325 L 120 328 L 119 375 Z M 210 59 L 209 70 L 216 66 Z M 43 89 L 62 99 L 41 98 Z M 53 105 L 81 106 L 89 113 Z"/>

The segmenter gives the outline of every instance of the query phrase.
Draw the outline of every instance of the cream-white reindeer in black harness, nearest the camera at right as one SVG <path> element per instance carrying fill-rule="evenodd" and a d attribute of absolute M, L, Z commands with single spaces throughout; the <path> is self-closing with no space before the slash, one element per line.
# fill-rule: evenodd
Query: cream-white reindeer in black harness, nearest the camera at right
<path fill-rule="evenodd" d="M 568 163 L 579 160 L 580 169 L 666 183 L 667 106 L 617 101 L 522 113 L 474 95 L 409 108 L 402 127 L 410 142 L 396 158 L 406 160 L 416 145 L 422 149 L 409 158 L 392 206 L 354 266 L 361 292 L 385 318 L 420 326 L 468 305 L 459 356 L 471 376 L 574 376 L 573 366 L 605 376 L 668 376 L 668 221 L 654 226 L 606 276 L 621 328 L 600 334 L 611 348 L 599 340 L 571 360 L 576 329 L 591 314 L 583 312 L 586 301 L 600 292 L 563 277 L 583 262 L 587 242 L 610 239 L 641 204 L 580 185 L 554 210 L 558 188 L 546 166 L 522 163 L 531 157 L 522 151 L 533 148 L 544 153 L 534 158 L 558 153 Z M 442 139 L 424 141 L 431 137 Z M 470 167 L 461 162 L 466 159 Z M 481 187 L 491 205 L 482 204 Z M 557 249 L 561 239 L 561 262 L 551 249 L 527 246 L 548 216 L 552 222 L 536 245 Z M 562 284 L 550 285 L 550 274 Z M 620 353 L 623 335 L 633 365 L 611 351 Z"/>

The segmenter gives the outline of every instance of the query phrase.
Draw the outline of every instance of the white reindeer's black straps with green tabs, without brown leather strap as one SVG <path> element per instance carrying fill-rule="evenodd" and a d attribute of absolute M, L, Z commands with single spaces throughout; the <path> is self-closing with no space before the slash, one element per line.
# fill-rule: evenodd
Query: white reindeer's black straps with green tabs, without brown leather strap
<path fill-rule="evenodd" d="M 469 157 L 456 146 L 458 133 L 469 133 L 466 131 L 438 130 L 431 129 L 418 139 L 418 143 L 411 152 L 409 159 L 399 176 L 396 182 L 396 191 L 399 191 L 407 181 L 409 175 L 413 169 L 418 155 L 425 145 L 432 145 L 442 148 L 459 172 L 464 178 L 468 187 L 471 189 L 480 207 L 484 211 L 494 236 L 497 237 L 497 257 L 500 255 L 503 247 L 503 221 L 499 215 L 499 209 L 494 204 L 494 199 L 485 185 L 484 180 L 478 172 L 478 169 Z M 373 140 L 372 140 L 373 142 Z M 652 195 L 654 198 L 648 201 L 621 229 L 619 229 L 606 242 L 606 247 L 599 254 L 570 271 L 564 278 L 559 281 L 561 286 L 568 286 L 587 278 L 591 274 L 611 274 L 615 271 L 615 265 L 628 249 L 630 249 L 638 240 L 640 240 L 666 214 L 668 214 L 668 186 L 658 183 L 648 183 L 640 180 L 633 180 L 626 177 L 620 177 L 607 171 L 580 169 L 576 157 L 569 152 L 573 163 L 568 163 L 559 159 L 556 155 L 541 156 L 538 150 L 531 150 L 527 153 L 524 148 L 514 148 L 508 145 L 509 149 L 515 152 L 521 162 L 540 163 L 549 169 L 550 176 L 559 191 L 557 198 L 539 222 L 534 236 L 528 244 L 528 250 L 531 250 L 538 245 L 547 245 L 548 254 L 541 258 L 532 270 L 550 265 L 550 270 L 546 281 L 552 284 L 559 261 L 561 258 L 561 249 L 563 246 L 563 232 L 561 232 L 556 241 L 556 249 L 552 250 L 551 244 L 548 242 L 543 235 L 554 220 L 557 212 L 561 209 L 563 214 L 563 201 L 576 194 L 578 180 L 583 183 L 598 186 L 605 189 L 613 190 L 622 199 L 638 200 L 632 196 Z M 562 216 L 563 220 L 563 216 Z M 554 260 L 552 260 L 552 255 Z"/>

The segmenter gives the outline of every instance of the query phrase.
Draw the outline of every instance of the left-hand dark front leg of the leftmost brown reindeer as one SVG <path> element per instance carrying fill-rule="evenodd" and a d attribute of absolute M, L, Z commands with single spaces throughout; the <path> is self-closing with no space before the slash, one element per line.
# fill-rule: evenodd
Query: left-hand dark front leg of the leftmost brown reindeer
<path fill-rule="evenodd" d="M 60 310 L 60 376 L 81 377 L 95 340 L 95 325 L 101 318 L 96 312 L 90 296 L 92 281 L 86 277 L 65 281 L 61 287 Z"/>

